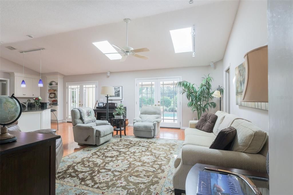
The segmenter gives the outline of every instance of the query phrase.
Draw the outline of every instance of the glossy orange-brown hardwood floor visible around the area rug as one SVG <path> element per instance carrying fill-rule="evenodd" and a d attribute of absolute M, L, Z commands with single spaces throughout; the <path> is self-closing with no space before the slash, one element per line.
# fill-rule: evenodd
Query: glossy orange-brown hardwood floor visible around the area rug
<path fill-rule="evenodd" d="M 52 122 L 51 128 L 57 129 L 57 123 Z M 62 137 L 63 149 L 64 149 L 63 156 L 67 156 L 71 153 L 77 152 L 87 147 L 87 145 L 83 145 L 83 144 L 78 145 L 76 142 L 74 142 L 72 124 L 70 122 L 59 122 L 59 131 L 57 132 L 57 134 Z M 114 135 L 115 135 L 115 132 L 114 132 Z M 132 126 L 126 127 L 126 135 L 133 136 Z M 184 130 L 160 128 L 160 133 L 156 136 L 156 138 L 184 140 Z"/>

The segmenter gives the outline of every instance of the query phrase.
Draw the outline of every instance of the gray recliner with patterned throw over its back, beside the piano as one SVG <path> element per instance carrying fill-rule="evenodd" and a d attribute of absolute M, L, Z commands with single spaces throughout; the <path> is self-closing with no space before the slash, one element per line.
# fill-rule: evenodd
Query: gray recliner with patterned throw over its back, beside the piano
<path fill-rule="evenodd" d="M 92 113 L 94 111 L 92 110 Z M 113 136 L 113 126 L 108 121 L 96 120 L 96 122 L 84 124 L 79 110 L 71 110 L 74 141 L 82 144 L 101 145 L 109 141 Z"/>

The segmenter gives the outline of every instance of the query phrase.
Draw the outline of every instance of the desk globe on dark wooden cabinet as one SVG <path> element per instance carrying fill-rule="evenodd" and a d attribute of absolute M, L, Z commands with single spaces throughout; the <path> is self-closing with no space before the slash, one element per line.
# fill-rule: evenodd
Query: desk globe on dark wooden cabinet
<path fill-rule="evenodd" d="M 22 112 L 21 103 L 14 94 L 11 96 L 0 95 L 0 144 L 16 141 L 16 136 L 7 132 L 7 125 L 10 125 L 18 120 Z"/>

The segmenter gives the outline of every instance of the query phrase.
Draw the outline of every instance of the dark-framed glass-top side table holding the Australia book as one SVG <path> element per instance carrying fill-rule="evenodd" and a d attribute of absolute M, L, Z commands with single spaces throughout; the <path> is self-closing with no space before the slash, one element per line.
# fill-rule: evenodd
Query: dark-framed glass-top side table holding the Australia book
<path fill-rule="evenodd" d="M 241 170 L 241 169 L 232 169 L 232 168 L 226 168 L 226 167 L 218 167 L 218 166 L 212 166 L 212 165 L 196 164 L 190 169 L 186 178 L 186 183 L 185 183 L 186 195 L 196 194 L 199 171 L 208 171 L 208 172 L 215 172 L 215 173 L 220 173 L 224 175 L 231 175 L 224 172 L 207 170 L 205 169 L 205 167 L 227 170 L 227 171 L 236 172 L 238 174 L 244 175 L 255 184 L 255 186 L 259 189 L 262 195 L 270 194 L 269 179 L 268 179 L 269 177 L 268 177 L 268 174 L 266 173 L 247 171 L 247 170 Z M 251 189 L 251 187 L 243 179 L 241 179 L 240 177 L 236 175 L 233 175 L 233 176 L 238 178 L 238 181 L 240 183 L 241 189 L 244 194 L 246 195 L 255 194 L 253 190 Z"/>

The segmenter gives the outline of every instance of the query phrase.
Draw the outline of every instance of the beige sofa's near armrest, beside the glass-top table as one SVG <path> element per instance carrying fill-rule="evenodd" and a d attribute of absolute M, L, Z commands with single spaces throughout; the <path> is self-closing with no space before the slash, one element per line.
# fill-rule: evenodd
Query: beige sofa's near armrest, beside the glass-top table
<path fill-rule="evenodd" d="M 184 145 L 182 147 L 182 163 L 185 165 L 201 163 L 266 172 L 266 158 L 261 154 L 216 150 L 196 145 Z"/>

